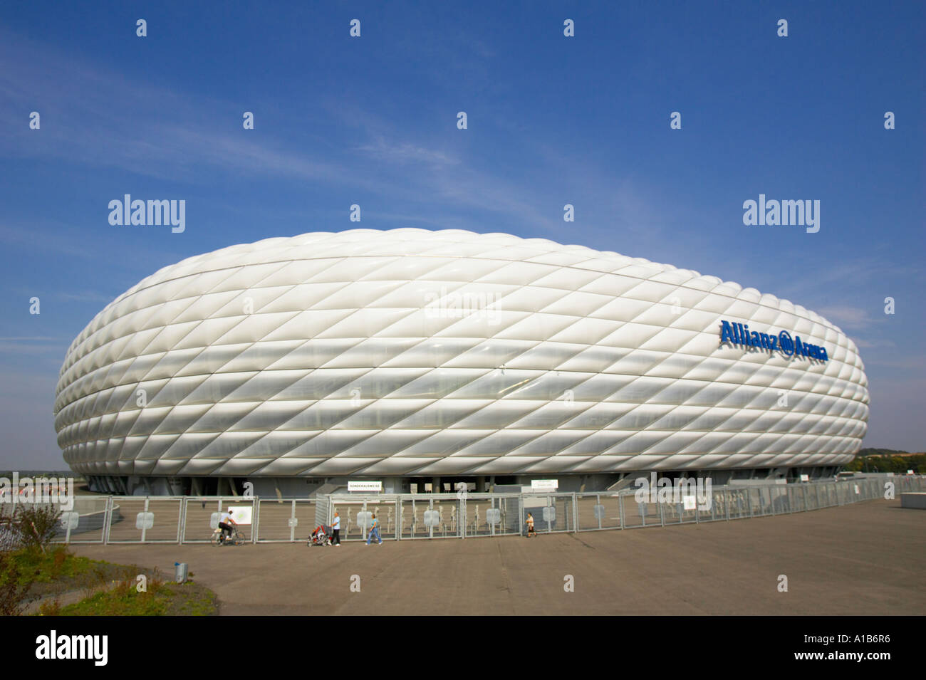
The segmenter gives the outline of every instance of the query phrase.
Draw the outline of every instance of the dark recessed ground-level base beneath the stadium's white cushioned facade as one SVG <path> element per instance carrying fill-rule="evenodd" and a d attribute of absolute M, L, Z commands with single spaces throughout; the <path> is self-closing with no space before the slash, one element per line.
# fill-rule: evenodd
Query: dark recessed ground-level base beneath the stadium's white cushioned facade
<path fill-rule="evenodd" d="M 750 480 L 795 481 L 801 475 L 810 479 L 832 477 L 839 466 L 761 467 L 710 470 L 641 469 L 620 473 L 589 475 L 483 475 L 483 476 L 136 476 L 85 474 L 87 486 L 96 493 L 119 496 L 240 496 L 248 489 L 261 498 L 304 499 L 319 494 L 346 491 L 349 481 L 382 482 L 383 493 L 448 493 L 465 484 L 470 492 L 514 491 L 530 487 L 535 480 L 556 480 L 557 490 L 565 492 L 617 491 L 632 486 L 643 476 L 710 478 L 721 486 Z"/>

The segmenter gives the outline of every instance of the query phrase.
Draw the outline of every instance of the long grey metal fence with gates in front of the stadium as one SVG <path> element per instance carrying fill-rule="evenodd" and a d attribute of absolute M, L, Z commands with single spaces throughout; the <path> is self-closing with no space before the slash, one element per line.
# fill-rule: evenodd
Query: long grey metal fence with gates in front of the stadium
<path fill-rule="evenodd" d="M 62 516 L 55 542 L 206 543 L 219 514 L 232 509 L 251 543 L 306 541 L 320 524 L 341 516 L 344 541 L 366 540 L 372 516 L 383 540 L 519 536 L 528 514 L 538 534 L 700 524 L 873 501 L 926 491 L 926 476 L 863 477 L 846 481 L 712 488 L 707 497 L 660 497 L 660 489 L 584 493 L 351 494 L 315 499 L 240 496 L 83 496 Z M 671 491 L 672 488 L 666 489 Z M 709 502 L 708 502 L 709 500 Z"/>

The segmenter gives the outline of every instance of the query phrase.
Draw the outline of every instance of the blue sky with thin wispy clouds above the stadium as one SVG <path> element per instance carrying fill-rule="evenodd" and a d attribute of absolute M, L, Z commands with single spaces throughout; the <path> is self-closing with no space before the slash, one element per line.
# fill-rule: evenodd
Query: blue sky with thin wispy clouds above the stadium
<path fill-rule="evenodd" d="M 580 243 L 788 298 L 857 342 L 864 445 L 926 449 L 922 3 L 188 5 L 0 7 L 0 467 L 63 466 L 57 372 L 119 293 L 356 227 Z M 125 193 L 184 199 L 186 230 L 110 226 Z M 759 193 L 819 200 L 820 231 L 745 226 Z"/>

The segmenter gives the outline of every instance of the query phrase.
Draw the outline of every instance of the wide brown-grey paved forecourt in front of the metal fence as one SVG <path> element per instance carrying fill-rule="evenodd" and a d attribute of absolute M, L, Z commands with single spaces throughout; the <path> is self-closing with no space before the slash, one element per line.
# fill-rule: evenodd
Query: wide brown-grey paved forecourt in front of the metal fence
<path fill-rule="evenodd" d="M 900 501 L 538 538 L 74 551 L 168 577 L 189 563 L 223 614 L 926 613 L 926 512 Z"/>

